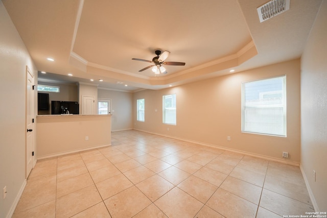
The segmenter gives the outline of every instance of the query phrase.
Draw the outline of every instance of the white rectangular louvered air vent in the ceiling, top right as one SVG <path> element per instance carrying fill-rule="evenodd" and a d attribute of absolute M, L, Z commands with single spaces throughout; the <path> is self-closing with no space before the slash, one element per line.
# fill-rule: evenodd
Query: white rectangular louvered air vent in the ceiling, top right
<path fill-rule="evenodd" d="M 263 22 L 289 9 L 290 0 L 272 0 L 256 10 L 258 11 L 260 22 Z"/>

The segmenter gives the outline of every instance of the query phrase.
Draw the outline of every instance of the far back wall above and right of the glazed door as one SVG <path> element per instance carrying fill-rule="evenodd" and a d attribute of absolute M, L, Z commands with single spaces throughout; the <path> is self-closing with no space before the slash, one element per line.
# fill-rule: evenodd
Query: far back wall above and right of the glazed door
<path fill-rule="evenodd" d="M 133 93 L 98 89 L 99 99 L 111 99 L 111 130 L 132 129 L 132 100 Z"/>

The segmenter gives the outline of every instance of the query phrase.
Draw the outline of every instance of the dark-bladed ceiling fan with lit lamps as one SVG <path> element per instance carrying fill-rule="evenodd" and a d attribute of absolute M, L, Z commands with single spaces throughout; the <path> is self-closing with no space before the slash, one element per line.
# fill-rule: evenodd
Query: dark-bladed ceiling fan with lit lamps
<path fill-rule="evenodd" d="M 132 60 L 136 60 L 136 61 L 145 61 L 145 62 L 149 62 L 149 63 L 154 63 L 153 65 L 147 66 L 143 69 L 138 70 L 139 72 L 149 69 L 150 67 L 152 67 L 152 71 L 154 72 L 154 74 L 167 74 L 167 70 L 164 66 L 162 65 L 177 65 L 177 66 L 184 66 L 185 63 L 184 62 L 164 62 L 170 52 L 165 51 L 161 54 L 160 50 L 156 50 L 155 54 L 157 55 L 156 57 L 154 57 L 152 59 L 152 61 L 148 61 L 148 60 L 144 60 L 144 59 L 138 59 L 138 58 L 132 58 Z M 160 55 L 161 54 L 161 55 Z"/>

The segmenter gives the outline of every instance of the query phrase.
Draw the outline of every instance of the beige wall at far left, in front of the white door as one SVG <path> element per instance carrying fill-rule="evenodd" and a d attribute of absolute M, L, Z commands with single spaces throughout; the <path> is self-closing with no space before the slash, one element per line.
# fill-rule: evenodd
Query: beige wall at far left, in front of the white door
<path fill-rule="evenodd" d="M 25 184 L 25 104 L 26 66 L 37 70 L 0 1 L 0 190 L 7 186 L 7 197 L 0 200 L 0 217 L 11 216 Z M 37 100 L 37 92 L 34 93 Z M 35 101 L 36 103 L 36 101 Z M 37 105 L 35 105 L 37 109 Z M 34 111 L 35 114 L 37 111 Z"/>

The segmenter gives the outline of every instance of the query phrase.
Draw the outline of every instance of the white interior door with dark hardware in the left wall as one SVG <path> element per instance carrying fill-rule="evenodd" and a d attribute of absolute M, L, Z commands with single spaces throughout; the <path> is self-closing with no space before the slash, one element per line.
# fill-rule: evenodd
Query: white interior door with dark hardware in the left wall
<path fill-rule="evenodd" d="M 26 178 L 30 175 L 33 167 L 34 152 L 34 95 L 33 75 L 26 67 Z"/>

